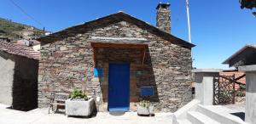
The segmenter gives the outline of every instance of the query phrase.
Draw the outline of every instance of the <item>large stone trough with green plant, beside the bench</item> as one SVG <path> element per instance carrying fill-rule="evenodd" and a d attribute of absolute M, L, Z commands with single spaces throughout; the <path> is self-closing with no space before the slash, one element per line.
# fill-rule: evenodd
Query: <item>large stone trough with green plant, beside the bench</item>
<path fill-rule="evenodd" d="M 67 116 L 90 116 L 95 109 L 94 99 L 88 99 L 87 95 L 82 90 L 74 89 L 71 94 L 71 99 L 65 102 Z"/>

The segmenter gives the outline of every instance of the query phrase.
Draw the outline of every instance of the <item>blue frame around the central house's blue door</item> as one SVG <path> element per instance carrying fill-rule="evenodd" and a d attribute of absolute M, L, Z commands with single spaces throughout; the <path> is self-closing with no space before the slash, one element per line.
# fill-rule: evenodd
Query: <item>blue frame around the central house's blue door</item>
<path fill-rule="evenodd" d="M 128 82 L 128 85 L 129 85 L 129 87 L 127 87 L 128 88 L 128 103 L 127 103 L 127 110 L 112 110 L 112 111 L 129 111 L 130 110 L 130 83 L 131 83 L 131 65 L 130 65 L 130 63 L 120 63 L 120 62 L 113 62 L 113 63 L 108 63 L 108 111 L 111 111 L 111 110 L 109 110 L 109 99 L 110 99 L 110 97 L 109 97 L 109 94 L 110 94 L 110 90 L 109 90 L 109 88 L 110 88 L 110 83 L 109 83 L 109 74 L 110 74 L 110 65 L 129 65 L 129 82 Z"/>

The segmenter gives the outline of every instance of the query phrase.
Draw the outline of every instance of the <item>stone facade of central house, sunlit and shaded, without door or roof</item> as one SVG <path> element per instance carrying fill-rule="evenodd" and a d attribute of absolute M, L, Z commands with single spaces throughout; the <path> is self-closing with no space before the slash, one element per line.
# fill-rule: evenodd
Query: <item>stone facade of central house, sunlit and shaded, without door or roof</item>
<path fill-rule="evenodd" d="M 80 33 L 78 33 L 80 32 Z M 55 37 L 41 39 L 41 59 L 38 76 L 38 106 L 47 107 L 50 93 L 67 92 L 73 88 L 83 90 L 93 97 L 100 97 L 97 108 L 108 107 L 108 63 L 129 62 L 131 64 L 130 101 L 140 97 L 141 86 L 154 86 L 150 100 L 156 111 L 176 111 L 192 99 L 191 94 L 191 48 L 152 33 L 154 29 L 143 28 L 129 21 L 118 21 L 108 25 L 68 29 L 56 33 Z M 147 39 L 146 54 L 142 65 L 143 50 L 132 48 L 96 48 L 91 42 L 129 42 L 122 39 L 106 41 L 92 37 L 132 37 Z M 40 40 L 40 39 L 39 39 Z M 96 53 L 96 55 L 94 55 Z M 96 62 L 94 61 L 96 60 Z M 102 67 L 104 76 L 93 76 L 94 67 Z M 139 72 L 138 72 L 139 71 Z M 139 75 L 138 75 L 139 74 Z"/>

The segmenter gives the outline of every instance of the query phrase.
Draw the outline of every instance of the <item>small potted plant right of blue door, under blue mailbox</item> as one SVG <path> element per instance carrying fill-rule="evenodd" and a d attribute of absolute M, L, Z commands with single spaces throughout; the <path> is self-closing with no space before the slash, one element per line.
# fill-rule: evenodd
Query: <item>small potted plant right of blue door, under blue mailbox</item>
<path fill-rule="evenodd" d="M 154 116 L 154 106 L 147 100 L 141 101 L 139 104 L 137 104 L 137 115 Z"/>

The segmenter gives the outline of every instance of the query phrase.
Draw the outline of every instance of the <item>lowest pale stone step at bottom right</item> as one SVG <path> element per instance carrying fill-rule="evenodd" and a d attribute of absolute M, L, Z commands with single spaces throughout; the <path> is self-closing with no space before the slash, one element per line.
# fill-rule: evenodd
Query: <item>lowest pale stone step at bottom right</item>
<path fill-rule="evenodd" d="M 214 121 L 210 117 L 205 116 L 198 111 L 189 111 L 188 119 L 193 124 L 220 124 L 218 121 Z"/>

